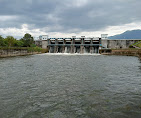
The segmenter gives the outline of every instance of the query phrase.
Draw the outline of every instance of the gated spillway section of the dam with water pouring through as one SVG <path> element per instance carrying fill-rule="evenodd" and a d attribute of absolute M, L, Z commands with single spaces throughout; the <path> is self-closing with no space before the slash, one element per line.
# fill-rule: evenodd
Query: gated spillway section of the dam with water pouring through
<path fill-rule="evenodd" d="M 86 38 L 85 36 L 47 38 L 47 40 L 42 40 L 41 45 L 42 48 L 48 49 L 49 53 L 99 53 L 101 38 Z"/>

